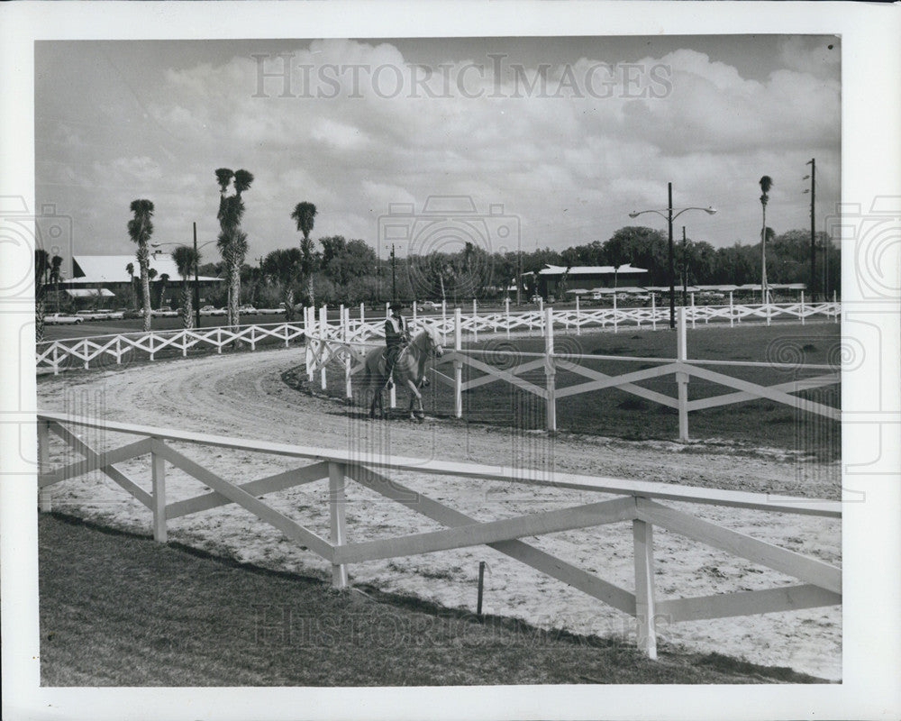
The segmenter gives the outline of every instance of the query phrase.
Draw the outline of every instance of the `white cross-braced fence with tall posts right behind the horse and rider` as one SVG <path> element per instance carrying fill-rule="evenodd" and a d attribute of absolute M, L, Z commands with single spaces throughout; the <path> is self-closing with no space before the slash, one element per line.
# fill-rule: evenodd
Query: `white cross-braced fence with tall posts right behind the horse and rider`
<path fill-rule="evenodd" d="M 826 406 L 804 397 L 792 395 L 799 391 L 838 384 L 841 377 L 838 369 L 833 366 L 816 364 L 798 366 L 796 364 L 778 362 L 760 363 L 727 360 L 689 360 L 686 342 L 686 328 L 688 323 L 687 308 L 678 309 L 677 357 L 669 359 L 579 355 L 571 353 L 558 354 L 554 351 L 554 328 L 559 325 L 558 315 L 550 307 L 544 308 L 543 314 L 544 317 L 541 326 L 544 329 L 544 352 L 517 352 L 517 356 L 522 359 L 522 362 L 519 362 L 512 368 L 502 368 L 493 364 L 491 359 L 496 356 L 505 357 L 507 354 L 501 351 L 475 351 L 463 348 L 463 333 L 468 326 L 460 308 L 455 309 L 451 333 L 449 333 L 453 338 L 453 350 L 445 353 L 441 359 L 434 361 L 432 364 L 432 373 L 434 378 L 439 382 L 453 388 L 454 415 L 456 417 L 460 418 L 463 415 L 462 398 L 464 392 L 479 388 L 488 383 L 503 381 L 516 388 L 521 388 L 533 396 L 540 397 L 545 401 L 547 415 L 546 427 L 549 431 L 557 430 L 557 402 L 561 398 L 582 393 L 590 393 L 605 388 L 619 388 L 620 390 L 635 396 L 651 400 L 663 406 L 675 408 L 678 411 L 679 439 L 682 441 L 687 441 L 689 438 L 689 413 L 704 410 L 706 408 L 743 403 L 755 398 L 766 398 L 775 403 L 784 404 L 815 415 L 823 415 L 826 418 L 836 421 L 841 418 L 841 411 L 839 408 Z M 425 322 L 433 323 L 431 318 L 426 320 L 418 318 L 414 320 L 414 324 L 422 324 Z M 311 386 L 314 384 L 315 376 L 318 373 L 320 388 L 326 390 L 328 388 L 326 369 L 330 364 L 337 365 L 343 370 L 345 397 L 349 400 L 352 399 L 352 377 L 358 373 L 359 370 L 362 370 L 366 351 L 368 351 L 369 348 L 380 344 L 369 342 L 369 340 L 378 338 L 381 329 L 374 329 L 370 324 L 366 323 L 358 322 L 355 324 L 353 320 L 350 319 L 345 309 L 341 310 L 341 319 L 338 324 L 328 324 L 325 319 L 324 310 L 320 311 L 318 319 L 312 312 L 308 313 L 306 315 L 306 324 L 308 328 L 306 339 L 306 372 Z M 509 329 L 509 325 L 507 327 Z M 440 333 L 444 333 L 447 330 L 446 325 L 438 325 L 437 328 Z M 476 330 L 472 324 L 469 325 L 469 329 L 473 335 L 478 333 L 478 330 Z M 589 360 L 616 360 L 637 362 L 642 363 L 642 365 L 647 365 L 648 363 L 655 363 L 657 365 L 650 369 L 645 368 L 617 376 L 611 376 L 599 370 L 587 367 L 584 362 Z M 453 366 L 452 376 L 441 372 L 441 367 L 448 364 Z M 462 374 L 463 366 L 468 366 L 471 369 L 477 370 L 481 375 L 479 375 L 478 378 L 464 381 Z M 710 368 L 717 366 L 764 368 L 767 370 L 804 370 L 805 372 L 815 371 L 818 375 L 801 380 L 791 380 L 773 386 L 761 386 L 760 384 L 734 378 L 733 376 L 711 370 Z M 534 382 L 534 379 L 523 378 L 526 374 L 534 374 L 536 371 L 540 372 L 541 370 L 543 370 L 544 376 L 543 386 Z M 557 374 L 560 370 L 574 373 L 584 380 L 576 385 L 557 388 Z M 677 397 L 670 397 L 655 390 L 642 388 L 642 386 L 637 385 L 643 380 L 663 378 L 670 375 L 675 375 L 677 381 Z M 714 397 L 689 400 L 688 384 L 692 378 L 723 386 L 724 388 L 728 388 L 729 392 Z M 395 391 L 394 388 L 392 388 L 391 406 L 393 407 L 395 405 Z"/>

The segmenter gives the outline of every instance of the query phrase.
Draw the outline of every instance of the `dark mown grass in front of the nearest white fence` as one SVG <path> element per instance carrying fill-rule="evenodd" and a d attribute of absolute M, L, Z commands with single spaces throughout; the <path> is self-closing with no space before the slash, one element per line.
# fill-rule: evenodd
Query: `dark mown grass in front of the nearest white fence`
<path fill-rule="evenodd" d="M 263 570 L 76 518 L 39 519 L 45 686 L 820 682 L 720 654 L 541 631 Z"/>

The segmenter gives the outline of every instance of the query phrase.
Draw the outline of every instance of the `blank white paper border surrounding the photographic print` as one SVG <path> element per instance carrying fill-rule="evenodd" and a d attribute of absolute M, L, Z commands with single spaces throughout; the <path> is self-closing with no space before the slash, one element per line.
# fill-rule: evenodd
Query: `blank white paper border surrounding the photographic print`
<path fill-rule="evenodd" d="M 825 33 L 842 36 L 842 197 L 869 207 L 901 196 L 901 6 L 843 3 L 456 2 L 368 4 L 11 3 L 0 8 L 0 195 L 34 207 L 33 50 L 35 40 L 451 35 L 610 35 Z M 881 348 L 867 349 L 896 423 L 898 305 L 854 306 L 853 253 L 843 248 L 843 300 L 882 309 L 873 323 Z M 2 262 L 0 287 L 15 269 Z M 901 716 L 901 536 L 898 434 L 876 449 L 872 426 L 846 426 L 843 462 L 886 475 L 856 476 L 866 503 L 843 519 L 844 681 L 812 687 L 479 687 L 440 689 L 41 689 L 37 659 L 36 509 L 33 447 L 33 340 L 29 299 L 0 298 L 0 546 L 3 571 L 4 718 L 897 718 Z M 28 329 L 26 328 L 26 331 Z M 19 385 L 8 382 L 12 374 Z M 859 385 L 860 384 L 860 385 Z M 845 379 L 843 409 L 866 397 L 861 374 Z M 901 428 L 901 426 L 893 426 Z M 20 475 L 14 475 L 18 473 Z"/>

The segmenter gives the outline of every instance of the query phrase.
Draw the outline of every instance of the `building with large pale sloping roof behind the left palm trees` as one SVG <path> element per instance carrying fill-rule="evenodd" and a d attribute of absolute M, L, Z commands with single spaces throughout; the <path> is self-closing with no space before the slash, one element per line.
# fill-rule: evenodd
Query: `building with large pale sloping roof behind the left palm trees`
<path fill-rule="evenodd" d="M 128 272 L 131 263 L 133 276 Z M 178 275 L 175 260 L 168 253 L 151 253 L 149 268 L 156 271 L 150 280 L 150 303 L 154 307 L 177 302 L 181 293 L 182 278 Z M 141 269 L 134 255 L 77 255 L 72 259 L 73 277 L 59 281 L 59 295 L 63 302 L 76 306 L 123 307 L 140 298 Z M 194 278 L 190 278 L 194 287 Z M 204 303 L 204 291 L 223 282 L 222 278 L 200 276 L 197 278 L 200 302 Z M 130 288 L 133 287 L 133 296 Z"/>

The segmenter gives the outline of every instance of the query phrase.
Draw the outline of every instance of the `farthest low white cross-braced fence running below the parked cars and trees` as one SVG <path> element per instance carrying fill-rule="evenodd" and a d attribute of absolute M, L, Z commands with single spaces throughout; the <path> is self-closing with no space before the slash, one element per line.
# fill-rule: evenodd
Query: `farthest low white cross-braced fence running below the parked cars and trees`
<path fill-rule="evenodd" d="M 731 299 L 731 298 L 730 298 Z M 324 311 L 323 311 L 324 309 Z M 71 368 L 89 369 L 107 365 L 122 365 L 123 359 L 155 360 L 161 351 L 180 351 L 187 356 L 188 351 L 215 350 L 221 353 L 223 348 L 234 343 L 246 343 L 250 350 L 256 350 L 257 343 L 267 339 L 276 339 L 284 342 L 286 347 L 291 341 L 303 338 L 308 324 L 317 324 L 319 333 L 326 334 L 333 340 L 346 340 L 346 342 L 367 342 L 384 337 L 384 317 L 366 320 L 366 313 L 362 304 L 359 306 L 359 315 L 350 317 L 350 307 L 339 307 L 339 318 L 346 321 L 338 324 L 328 324 L 322 321 L 323 312 L 328 316 L 328 309 L 320 308 L 318 318 L 316 311 L 305 308 L 304 321 L 301 323 L 278 323 L 262 325 L 241 325 L 236 331 L 227 327 L 214 327 L 202 329 L 182 329 L 175 331 L 150 331 L 135 333 L 112 333 L 109 335 L 93 336 L 89 338 L 69 338 L 59 341 L 46 341 L 37 344 L 35 357 L 36 367 L 50 369 L 54 375 L 60 370 Z M 505 310 L 500 313 L 479 313 L 476 301 L 472 303 L 472 312 L 457 314 L 454 309 L 449 309 L 446 304 L 441 304 L 441 312 L 432 315 L 417 315 L 414 305 L 414 326 L 428 321 L 432 324 L 447 343 L 448 338 L 459 327 L 461 332 L 478 340 L 479 333 L 504 333 L 510 337 L 511 333 L 542 333 L 548 325 L 546 308 L 527 311 L 511 311 L 510 302 L 505 303 Z M 734 325 L 742 321 L 765 321 L 767 324 L 774 320 L 794 320 L 802 324 L 812 316 L 832 318 L 836 323 L 841 312 L 841 306 L 835 302 L 805 304 L 804 294 L 801 294 L 800 302 L 791 304 L 761 304 L 735 306 L 695 306 L 694 299 L 691 306 L 686 306 L 687 322 L 695 327 L 698 323 L 709 324 L 726 323 Z M 386 310 L 387 313 L 387 310 Z M 459 316 L 459 320 L 458 320 Z M 656 329 L 669 327 L 669 307 L 638 308 L 582 308 L 576 302 L 575 308 L 553 310 L 551 309 L 551 325 L 558 330 L 581 333 L 583 329 L 600 328 L 618 331 L 623 327 L 650 327 Z M 345 339 L 346 334 L 346 339 Z"/>

